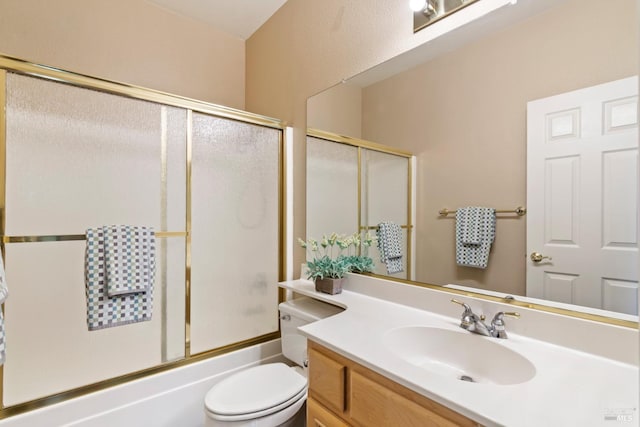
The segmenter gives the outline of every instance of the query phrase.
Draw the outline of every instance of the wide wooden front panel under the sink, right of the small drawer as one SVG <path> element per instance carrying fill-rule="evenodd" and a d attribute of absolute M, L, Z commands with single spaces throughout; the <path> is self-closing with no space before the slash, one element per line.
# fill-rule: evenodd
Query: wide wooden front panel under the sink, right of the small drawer
<path fill-rule="evenodd" d="M 351 372 L 349 401 L 351 402 L 351 421 L 363 427 L 457 427 L 460 425 L 358 372 Z"/>

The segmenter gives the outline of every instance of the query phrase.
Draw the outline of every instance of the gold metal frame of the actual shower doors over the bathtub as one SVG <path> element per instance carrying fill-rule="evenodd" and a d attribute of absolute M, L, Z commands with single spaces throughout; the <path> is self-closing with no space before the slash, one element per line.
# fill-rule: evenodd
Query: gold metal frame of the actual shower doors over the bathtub
<path fill-rule="evenodd" d="M 106 92 L 113 95 L 124 96 L 133 99 L 139 99 L 144 101 L 151 101 L 161 105 L 162 120 L 166 120 L 166 108 L 165 106 L 183 108 L 187 112 L 187 129 L 186 129 L 186 197 L 185 197 L 185 230 L 165 230 L 166 225 L 166 205 L 163 204 L 163 212 L 161 212 L 161 223 L 163 226 L 162 231 L 156 232 L 156 236 L 159 237 L 160 247 L 162 248 L 163 242 L 168 238 L 181 238 L 185 239 L 185 265 L 184 265 L 184 277 L 185 277 L 185 342 L 184 342 L 184 358 L 174 360 L 170 362 L 164 362 L 160 365 L 152 366 L 140 371 L 130 372 L 114 378 L 98 381 L 92 384 L 87 384 L 78 388 L 67 390 L 64 392 L 56 393 L 50 396 L 37 398 L 28 402 L 20 403 L 12 406 L 4 406 L 4 375 L 3 366 L 0 366 L 0 419 L 4 419 L 13 415 L 31 411 L 44 406 L 59 403 L 68 399 L 84 396 L 86 394 L 102 390 L 108 387 L 123 384 L 135 379 L 143 378 L 152 374 L 174 369 L 180 366 L 188 365 L 194 362 L 198 362 L 204 359 L 208 359 L 220 354 L 232 352 L 242 348 L 246 348 L 255 344 L 264 343 L 280 337 L 280 331 L 271 332 L 262 336 L 250 338 L 241 342 L 232 343 L 223 347 L 210 349 L 197 354 L 191 354 L 191 172 L 192 172 L 192 114 L 193 112 L 203 113 L 219 118 L 226 118 L 242 123 L 253 124 L 263 126 L 267 128 L 273 128 L 279 130 L 278 141 L 278 280 L 284 280 L 284 272 L 286 271 L 286 259 L 284 256 L 284 243 L 285 243 L 285 194 L 284 189 L 284 170 L 285 170 L 285 124 L 281 120 L 273 119 L 266 116 L 261 116 L 253 113 L 248 113 L 233 108 L 215 105 L 203 101 L 198 101 L 190 98 L 185 98 L 177 95 L 172 95 L 165 92 L 160 92 L 152 89 L 146 89 L 139 86 L 128 85 L 123 83 L 112 82 L 104 79 L 90 77 L 83 74 L 73 73 L 65 70 L 60 70 L 44 65 L 33 64 L 27 61 L 23 61 L 17 58 L 12 58 L 0 54 L 0 249 L 4 256 L 5 245 L 13 243 L 30 243 L 30 242 L 58 242 L 69 240 L 84 240 L 84 234 L 80 235 L 39 235 L 39 236 L 6 236 L 5 235 L 5 206 L 6 206 L 6 81 L 7 73 L 13 72 L 16 74 L 22 74 L 32 77 L 38 77 L 41 79 L 51 80 L 55 82 L 62 82 L 70 84 L 76 87 L 93 89 L 100 92 Z M 162 200 L 166 200 L 166 134 L 163 127 L 161 136 L 161 156 L 162 156 Z M 162 272 L 160 272 L 162 275 Z M 281 302 L 284 298 L 284 294 L 281 290 L 278 292 L 278 302 Z M 4 312 L 4 304 L 2 305 Z M 164 328 L 164 326 L 163 326 Z M 164 331 L 163 331 L 164 332 Z M 163 346 L 164 349 L 164 346 Z M 164 354 L 163 354 L 163 360 Z"/>

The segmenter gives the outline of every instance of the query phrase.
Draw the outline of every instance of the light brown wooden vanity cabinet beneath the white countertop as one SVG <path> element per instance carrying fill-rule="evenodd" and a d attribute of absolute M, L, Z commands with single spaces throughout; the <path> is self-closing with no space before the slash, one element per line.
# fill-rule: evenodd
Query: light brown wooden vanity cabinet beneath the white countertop
<path fill-rule="evenodd" d="M 309 341 L 308 427 L 478 427 L 479 424 Z"/>

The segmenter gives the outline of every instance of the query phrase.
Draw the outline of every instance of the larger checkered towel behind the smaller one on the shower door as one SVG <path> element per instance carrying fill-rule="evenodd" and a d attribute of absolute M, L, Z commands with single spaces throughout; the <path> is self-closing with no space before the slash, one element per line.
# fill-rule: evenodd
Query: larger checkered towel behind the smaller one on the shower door
<path fill-rule="evenodd" d="M 87 326 L 90 331 L 151 320 L 156 260 L 155 243 L 149 247 L 149 286 L 147 290 L 109 296 L 106 268 L 108 227 L 86 232 L 85 286 Z"/>

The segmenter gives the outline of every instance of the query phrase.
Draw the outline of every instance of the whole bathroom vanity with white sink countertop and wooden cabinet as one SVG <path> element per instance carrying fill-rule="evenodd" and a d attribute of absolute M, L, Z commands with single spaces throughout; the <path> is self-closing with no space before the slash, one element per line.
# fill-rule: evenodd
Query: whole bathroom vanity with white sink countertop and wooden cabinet
<path fill-rule="evenodd" d="M 638 331 L 472 296 L 349 275 L 345 308 L 306 325 L 308 425 L 600 426 L 638 423 Z M 506 319 L 507 339 L 460 328 L 463 300 Z M 598 345 L 594 345 L 594 343 Z"/>

